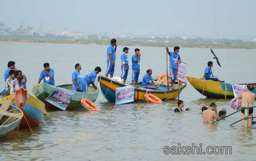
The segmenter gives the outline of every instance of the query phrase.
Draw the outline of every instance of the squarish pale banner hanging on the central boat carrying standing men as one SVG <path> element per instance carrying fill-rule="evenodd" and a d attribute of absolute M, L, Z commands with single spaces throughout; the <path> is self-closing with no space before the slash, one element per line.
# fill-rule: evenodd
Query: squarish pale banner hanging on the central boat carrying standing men
<path fill-rule="evenodd" d="M 134 101 L 134 87 L 124 86 L 116 88 L 116 104 L 124 104 Z"/>

